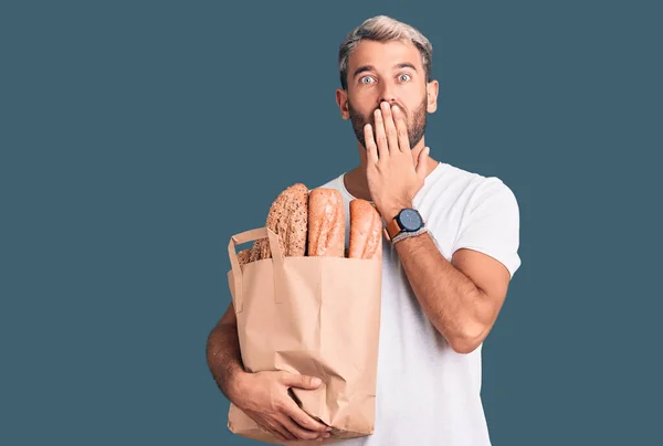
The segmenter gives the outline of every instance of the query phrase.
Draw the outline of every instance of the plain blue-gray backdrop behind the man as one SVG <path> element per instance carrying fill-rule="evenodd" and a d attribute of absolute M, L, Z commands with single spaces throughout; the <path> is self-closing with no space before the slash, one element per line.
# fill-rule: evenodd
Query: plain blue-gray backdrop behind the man
<path fill-rule="evenodd" d="M 3 2 L 0 444 L 253 444 L 206 364 L 225 248 L 285 187 L 355 166 L 336 52 L 378 13 L 434 45 L 432 156 L 520 205 L 523 266 L 484 346 L 493 443 L 653 444 L 661 12 Z"/>

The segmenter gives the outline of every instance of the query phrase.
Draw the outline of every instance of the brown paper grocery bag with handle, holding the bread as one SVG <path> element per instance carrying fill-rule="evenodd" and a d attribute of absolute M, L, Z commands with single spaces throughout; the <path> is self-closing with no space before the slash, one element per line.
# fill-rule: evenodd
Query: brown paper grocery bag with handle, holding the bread
<path fill-rule="evenodd" d="M 269 238 L 272 258 L 240 265 L 235 246 Z M 295 401 L 333 427 L 323 442 L 366 436 L 375 427 L 381 258 L 284 257 L 267 227 L 231 237 L 228 282 L 246 371 L 319 376 L 315 390 L 292 389 Z M 231 404 L 234 434 L 281 443 Z M 303 445 L 309 442 L 291 442 Z"/>

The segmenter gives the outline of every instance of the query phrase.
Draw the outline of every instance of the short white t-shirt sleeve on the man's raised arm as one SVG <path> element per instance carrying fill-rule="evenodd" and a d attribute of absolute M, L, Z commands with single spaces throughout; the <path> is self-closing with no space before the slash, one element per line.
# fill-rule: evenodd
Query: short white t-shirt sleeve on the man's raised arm
<path fill-rule="evenodd" d="M 497 178 L 486 179 L 469 202 L 453 244 L 478 251 L 501 262 L 511 277 L 520 266 L 519 209 L 513 191 Z"/>

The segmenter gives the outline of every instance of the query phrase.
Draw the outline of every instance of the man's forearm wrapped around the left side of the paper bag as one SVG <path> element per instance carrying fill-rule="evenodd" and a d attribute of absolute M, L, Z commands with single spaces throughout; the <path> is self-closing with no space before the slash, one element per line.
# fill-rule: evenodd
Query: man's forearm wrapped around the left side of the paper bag
<path fill-rule="evenodd" d="M 207 360 L 212 378 L 231 402 L 238 401 L 240 379 L 245 373 L 236 326 L 221 322 L 210 332 Z"/>

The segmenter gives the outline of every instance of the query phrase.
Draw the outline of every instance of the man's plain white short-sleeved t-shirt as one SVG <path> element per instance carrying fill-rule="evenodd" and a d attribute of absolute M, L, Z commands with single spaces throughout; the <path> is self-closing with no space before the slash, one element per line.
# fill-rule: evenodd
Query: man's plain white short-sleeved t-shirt
<path fill-rule="evenodd" d="M 344 174 L 322 185 L 354 197 Z M 519 211 L 511 189 L 495 177 L 440 162 L 414 197 L 442 255 L 472 248 L 502 262 L 512 277 L 520 266 Z M 491 445 L 481 392 L 481 347 L 454 352 L 428 320 L 393 246 L 383 240 L 382 302 L 378 352 L 376 428 L 343 446 Z"/>

